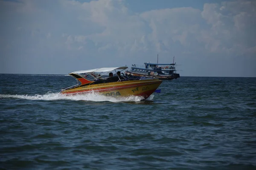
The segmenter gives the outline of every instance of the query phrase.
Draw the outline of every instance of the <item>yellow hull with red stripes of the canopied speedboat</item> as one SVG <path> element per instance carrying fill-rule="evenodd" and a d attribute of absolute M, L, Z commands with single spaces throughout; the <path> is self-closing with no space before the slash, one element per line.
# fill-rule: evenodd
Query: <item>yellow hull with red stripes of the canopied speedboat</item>
<path fill-rule="evenodd" d="M 76 88 L 61 91 L 62 94 L 86 94 L 96 92 L 104 96 L 126 97 L 143 96 L 148 98 L 162 83 L 159 79 L 129 80 L 102 83 L 95 85 L 78 86 Z"/>

